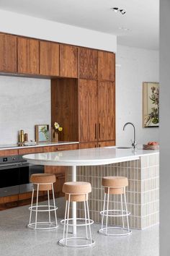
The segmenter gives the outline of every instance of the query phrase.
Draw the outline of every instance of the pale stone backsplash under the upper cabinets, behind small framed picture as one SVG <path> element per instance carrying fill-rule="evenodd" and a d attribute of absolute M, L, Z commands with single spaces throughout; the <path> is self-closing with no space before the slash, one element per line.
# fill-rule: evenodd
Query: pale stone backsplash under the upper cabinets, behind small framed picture
<path fill-rule="evenodd" d="M 35 139 L 35 124 L 50 124 L 50 80 L 0 76 L 0 144 L 17 142 L 19 129 Z"/>

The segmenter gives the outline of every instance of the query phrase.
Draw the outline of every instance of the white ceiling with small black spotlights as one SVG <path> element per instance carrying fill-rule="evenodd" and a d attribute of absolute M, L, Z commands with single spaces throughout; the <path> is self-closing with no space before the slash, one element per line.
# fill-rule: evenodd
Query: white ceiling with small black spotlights
<path fill-rule="evenodd" d="M 0 0 L 0 9 L 99 30 L 117 35 L 122 45 L 158 50 L 159 0 Z"/>

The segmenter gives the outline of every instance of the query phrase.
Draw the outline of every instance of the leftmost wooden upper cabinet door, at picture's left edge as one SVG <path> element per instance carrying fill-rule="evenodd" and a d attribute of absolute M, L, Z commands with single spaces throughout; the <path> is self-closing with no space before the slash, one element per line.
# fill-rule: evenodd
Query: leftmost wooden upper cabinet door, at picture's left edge
<path fill-rule="evenodd" d="M 17 37 L 0 34 L 0 71 L 17 72 Z"/>

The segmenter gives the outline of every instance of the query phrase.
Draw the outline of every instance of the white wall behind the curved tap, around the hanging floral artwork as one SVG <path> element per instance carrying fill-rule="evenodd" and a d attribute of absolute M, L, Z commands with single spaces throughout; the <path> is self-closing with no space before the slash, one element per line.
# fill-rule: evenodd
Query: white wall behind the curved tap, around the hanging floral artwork
<path fill-rule="evenodd" d="M 123 125 L 131 121 L 137 127 L 139 144 L 158 141 L 158 128 L 143 128 L 142 85 L 143 82 L 159 82 L 158 51 L 128 46 L 117 46 L 116 69 L 116 137 L 117 145 L 130 145 L 133 127 Z"/>

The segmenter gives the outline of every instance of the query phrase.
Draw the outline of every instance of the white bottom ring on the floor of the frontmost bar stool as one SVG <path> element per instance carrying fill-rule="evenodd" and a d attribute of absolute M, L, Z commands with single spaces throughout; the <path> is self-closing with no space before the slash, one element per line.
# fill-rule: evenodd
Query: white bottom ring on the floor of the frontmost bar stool
<path fill-rule="evenodd" d="M 86 241 L 86 244 L 81 244 L 81 243 L 76 244 L 76 242 L 80 242 L 81 240 Z M 58 241 L 58 244 L 62 245 L 63 247 L 90 247 L 94 243 L 95 243 L 94 239 L 89 239 L 86 237 L 68 237 L 67 244 L 66 244 L 66 238 Z"/>

